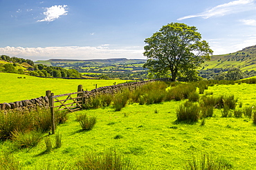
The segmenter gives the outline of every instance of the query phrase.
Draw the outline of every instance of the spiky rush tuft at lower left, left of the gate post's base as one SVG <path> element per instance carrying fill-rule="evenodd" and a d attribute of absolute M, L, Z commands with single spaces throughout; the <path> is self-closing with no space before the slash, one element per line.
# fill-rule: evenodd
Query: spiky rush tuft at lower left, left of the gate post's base
<path fill-rule="evenodd" d="M 13 141 L 15 146 L 21 148 L 32 148 L 36 147 L 37 144 L 42 140 L 43 134 L 39 131 L 27 131 L 27 132 L 14 132 Z"/>

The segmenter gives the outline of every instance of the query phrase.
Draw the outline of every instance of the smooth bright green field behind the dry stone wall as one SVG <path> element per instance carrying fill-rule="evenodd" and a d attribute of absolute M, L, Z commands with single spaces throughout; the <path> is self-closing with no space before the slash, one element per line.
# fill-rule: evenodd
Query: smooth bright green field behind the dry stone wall
<path fill-rule="evenodd" d="M 22 77 L 22 78 L 17 78 Z M 25 77 L 25 78 L 24 78 Z M 23 74 L 0 72 L 0 103 L 10 103 L 45 96 L 46 90 L 54 94 L 77 92 L 77 86 L 83 85 L 84 90 L 124 83 L 124 80 L 68 80 L 62 78 L 39 78 Z"/>

